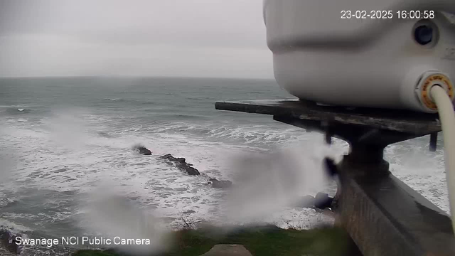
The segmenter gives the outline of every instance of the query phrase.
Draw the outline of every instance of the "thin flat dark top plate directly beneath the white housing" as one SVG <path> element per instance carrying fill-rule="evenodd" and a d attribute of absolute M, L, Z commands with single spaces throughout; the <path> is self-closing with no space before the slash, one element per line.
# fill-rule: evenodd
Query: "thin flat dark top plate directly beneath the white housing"
<path fill-rule="evenodd" d="M 441 131 L 437 114 L 368 108 L 328 107 L 301 100 L 243 100 L 216 102 L 217 110 L 272 114 L 301 120 L 358 124 L 395 132 L 430 134 Z"/>

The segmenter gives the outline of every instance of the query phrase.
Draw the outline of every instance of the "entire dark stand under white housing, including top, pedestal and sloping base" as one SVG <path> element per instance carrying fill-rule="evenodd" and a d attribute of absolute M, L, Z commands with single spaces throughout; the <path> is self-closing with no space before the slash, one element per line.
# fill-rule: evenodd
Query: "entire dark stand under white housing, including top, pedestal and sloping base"
<path fill-rule="evenodd" d="M 350 153 L 337 165 L 333 209 L 365 256 L 455 255 L 451 220 L 444 211 L 392 176 L 385 146 L 441 131 L 437 114 L 319 106 L 300 100 L 216 102 L 217 110 L 271 114 L 279 122 L 338 137 Z"/>

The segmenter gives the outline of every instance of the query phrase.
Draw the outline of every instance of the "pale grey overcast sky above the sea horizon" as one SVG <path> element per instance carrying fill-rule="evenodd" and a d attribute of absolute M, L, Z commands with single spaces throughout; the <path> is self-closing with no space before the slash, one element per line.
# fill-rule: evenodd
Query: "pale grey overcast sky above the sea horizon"
<path fill-rule="evenodd" d="M 0 0 L 0 76 L 273 78 L 262 0 Z"/>

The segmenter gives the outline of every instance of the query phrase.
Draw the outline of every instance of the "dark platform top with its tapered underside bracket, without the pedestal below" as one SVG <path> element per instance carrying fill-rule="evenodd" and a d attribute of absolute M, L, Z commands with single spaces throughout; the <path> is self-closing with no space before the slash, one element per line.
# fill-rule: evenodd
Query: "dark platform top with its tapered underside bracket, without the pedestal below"
<path fill-rule="evenodd" d="M 243 100 L 216 102 L 217 110 L 271 114 L 279 122 L 311 132 L 325 132 L 327 140 L 338 137 L 352 144 L 385 147 L 427 134 L 437 134 L 437 114 L 410 111 L 327 107 L 301 100 Z M 336 128 L 335 128 L 336 127 Z M 436 141 L 434 141 L 436 143 Z"/>

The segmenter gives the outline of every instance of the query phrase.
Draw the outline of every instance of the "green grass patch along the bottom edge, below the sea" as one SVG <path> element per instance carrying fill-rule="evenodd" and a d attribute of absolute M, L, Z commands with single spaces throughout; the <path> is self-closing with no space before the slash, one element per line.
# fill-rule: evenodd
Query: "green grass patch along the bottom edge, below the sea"
<path fill-rule="evenodd" d="M 181 230 L 173 234 L 170 251 L 159 256 L 198 256 L 213 245 L 244 245 L 255 256 L 346 256 L 350 255 L 350 239 L 339 228 L 284 230 L 275 226 L 240 228 L 229 233 L 216 228 Z M 123 256 L 112 251 L 82 250 L 75 256 Z"/>

